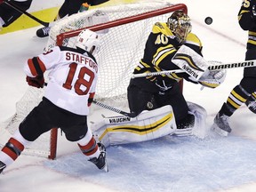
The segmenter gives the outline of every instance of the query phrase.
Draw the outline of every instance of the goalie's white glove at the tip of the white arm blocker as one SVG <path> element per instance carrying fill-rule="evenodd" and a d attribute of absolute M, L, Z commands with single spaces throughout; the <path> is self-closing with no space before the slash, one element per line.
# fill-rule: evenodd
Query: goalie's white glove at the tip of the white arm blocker
<path fill-rule="evenodd" d="M 225 69 L 206 70 L 204 75 L 199 78 L 198 83 L 205 87 L 216 88 L 224 82 L 226 74 L 227 71 Z"/>

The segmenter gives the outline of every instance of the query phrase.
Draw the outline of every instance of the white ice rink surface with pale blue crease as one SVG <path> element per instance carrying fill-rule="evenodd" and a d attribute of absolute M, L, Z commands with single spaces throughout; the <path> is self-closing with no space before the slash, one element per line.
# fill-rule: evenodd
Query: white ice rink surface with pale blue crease
<path fill-rule="evenodd" d="M 224 63 L 244 60 L 247 32 L 237 23 L 240 1 L 181 2 L 188 5 L 193 32 L 204 44 L 206 60 Z M 210 26 L 204 24 L 207 16 L 213 19 Z M 0 36 L 0 122 L 14 114 L 15 103 L 28 88 L 23 63 L 41 53 L 46 43 L 46 39 L 35 37 L 36 29 Z M 207 110 L 206 120 L 210 126 L 242 76 L 242 68 L 228 69 L 226 81 L 215 90 L 200 91 L 199 85 L 185 82 L 184 95 Z M 103 113 L 108 116 L 107 110 Z M 69 143 L 60 136 L 56 160 L 21 155 L 0 175 L 0 192 L 255 191 L 255 115 L 243 106 L 231 117 L 230 123 L 233 132 L 224 139 L 167 136 L 109 147 L 108 173 L 100 172 L 89 163 L 76 143 Z"/>

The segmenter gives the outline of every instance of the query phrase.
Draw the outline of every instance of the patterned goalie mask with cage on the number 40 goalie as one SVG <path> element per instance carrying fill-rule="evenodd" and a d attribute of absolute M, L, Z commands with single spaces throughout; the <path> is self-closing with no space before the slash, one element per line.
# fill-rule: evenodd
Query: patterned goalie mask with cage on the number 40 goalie
<path fill-rule="evenodd" d="M 182 11 L 173 12 L 167 20 L 167 26 L 180 44 L 185 41 L 192 28 L 190 18 Z"/>

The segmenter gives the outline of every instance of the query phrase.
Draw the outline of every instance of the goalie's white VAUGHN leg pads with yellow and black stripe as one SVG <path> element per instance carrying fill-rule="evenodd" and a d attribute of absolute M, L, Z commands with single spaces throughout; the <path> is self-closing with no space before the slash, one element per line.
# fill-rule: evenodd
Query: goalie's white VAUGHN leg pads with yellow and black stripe
<path fill-rule="evenodd" d="M 195 103 L 188 102 L 189 113 L 195 116 L 195 123 L 184 129 L 177 129 L 172 106 L 142 111 L 139 116 L 103 117 L 91 125 L 93 135 L 106 147 L 155 140 L 166 135 L 188 136 L 199 134 L 204 129 L 206 111 Z"/>

